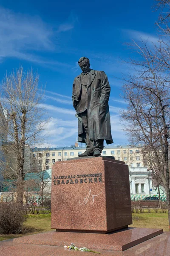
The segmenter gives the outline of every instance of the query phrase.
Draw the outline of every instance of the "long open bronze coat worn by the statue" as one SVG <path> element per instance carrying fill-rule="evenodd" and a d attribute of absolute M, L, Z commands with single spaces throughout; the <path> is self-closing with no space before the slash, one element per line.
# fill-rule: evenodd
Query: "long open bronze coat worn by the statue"
<path fill-rule="evenodd" d="M 87 84 L 88 93 L 88 131 L 90 140 L 106 140 L 107 144 L 113 143 L 111 136 L 111 122 L 108 100 L 111 87 L 105 72 L 91 70 Z M 73 83 L 73 106 L 77 112 L 78 118 L 78 142 L 85 143 L 85 132 L 83 130 L 82 120 L 79 116 L 81 112 L 79 102 L 82 95 L 81 74 L 74 79 Z"/>

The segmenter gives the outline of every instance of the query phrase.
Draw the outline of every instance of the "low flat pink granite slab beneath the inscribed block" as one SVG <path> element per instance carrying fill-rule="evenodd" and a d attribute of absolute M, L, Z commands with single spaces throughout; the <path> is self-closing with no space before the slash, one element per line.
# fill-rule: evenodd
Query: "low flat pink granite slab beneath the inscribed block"
<path fill-rule="evenodd" d="M 124 251 L 163 233 L 161 229 L 128 228 L 110 234 L 91 234 L 73 232 L 39 233 L 14 239 L 14 243 L 64 246 L 74 243 L 77 247 L 99 250 Z"/>

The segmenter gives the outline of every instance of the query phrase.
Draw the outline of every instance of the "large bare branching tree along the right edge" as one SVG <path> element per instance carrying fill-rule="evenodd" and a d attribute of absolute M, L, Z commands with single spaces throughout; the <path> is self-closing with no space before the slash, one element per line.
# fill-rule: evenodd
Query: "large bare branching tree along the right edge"
<path fill-rule="evenodd" d="M 128 107 L 122 118 L 129 123 L 125 129 L 132 143 L 143 145 L 153 177 L 159 177 L 166 188 L 170 223 L 170 77 L 163 64 L 163 48 L 159 43 L 159 47 L 153 44 L 151 49 L 142 39 L 140 44 L 133 42 L 130 45 L 136 48 L 139 58 L 130 60 L 133 74 L 124 77 L 123 92 Z"/>

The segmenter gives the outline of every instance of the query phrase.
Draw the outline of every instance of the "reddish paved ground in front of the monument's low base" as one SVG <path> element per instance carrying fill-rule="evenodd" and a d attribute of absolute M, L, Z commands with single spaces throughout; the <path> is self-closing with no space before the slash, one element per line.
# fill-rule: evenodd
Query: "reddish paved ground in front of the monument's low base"
<path fill-rule="evenodd" d="M 144 241 L 123 252 L 96 250 L 104 256 L 170 256 L 170 232 L 156 236 Z M 13 240 L 0 242 L 0 256 L 95 256 L 97 254 L 90 252 L 79 252 L 68 250 L 64 247 L 19 244 L 13 243 Z"/>

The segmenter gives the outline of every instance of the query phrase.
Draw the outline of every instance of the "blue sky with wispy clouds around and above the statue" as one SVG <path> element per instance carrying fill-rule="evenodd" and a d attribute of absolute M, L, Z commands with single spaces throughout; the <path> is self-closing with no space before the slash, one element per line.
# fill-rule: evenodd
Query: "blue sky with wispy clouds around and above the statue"
<path fill-rule="evenodd" d="M 95 3 L 96 2 L 96 3 Z M 149 38 L 156 41 L 154 0 L 43 1 L 0 0 L 0 80 L 23 65 L 33 67 L 46 84 L 43 106 L 51 120 L 48 145 L 74 144 L 77 119 L 71 94 L 74 77 L 81 73 L 77 61 L 90 58 L 91 68 L 103 70 L 111 85 L 109 100 L 114 144 L 128 143 L 121 130 L 119 111 L 122 60 L 133 55 L 125 42 Z"/>

